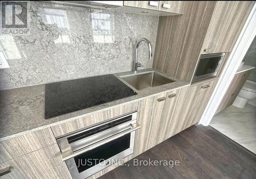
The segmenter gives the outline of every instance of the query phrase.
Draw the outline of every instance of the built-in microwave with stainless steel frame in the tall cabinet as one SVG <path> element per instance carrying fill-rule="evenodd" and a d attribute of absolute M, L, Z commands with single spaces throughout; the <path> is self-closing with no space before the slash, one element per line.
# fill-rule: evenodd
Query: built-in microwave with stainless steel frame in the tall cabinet
<path fill-rule="evenodd" d="M 216 76 L 224 56 L 225 53 L 201 55 L 192 82 L 197 82 Z"/>

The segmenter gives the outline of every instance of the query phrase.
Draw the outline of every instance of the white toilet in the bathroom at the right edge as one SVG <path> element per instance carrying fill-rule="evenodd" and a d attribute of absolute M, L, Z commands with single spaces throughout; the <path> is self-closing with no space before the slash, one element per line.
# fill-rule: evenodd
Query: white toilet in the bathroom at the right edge
<path fill-rule="evenodd" d="M 247 80 L 232 105 L 238 108 L 244 108 L 247 101 L 250 99 L 254 99 L 255 97 L 256 97 L 256 82 Z"/>

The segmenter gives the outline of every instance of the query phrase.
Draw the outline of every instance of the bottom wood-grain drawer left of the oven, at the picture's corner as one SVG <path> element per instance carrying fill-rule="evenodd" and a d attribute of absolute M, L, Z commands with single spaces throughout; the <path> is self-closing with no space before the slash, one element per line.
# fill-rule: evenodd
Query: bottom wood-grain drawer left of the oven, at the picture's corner
<path fill-rule="evenodd" d="M 0 170 L 9 168 L 2 179 L 54 178 L 69 172 L 57 144 L 41 148 L 24 156 L 0 164 Z"/>

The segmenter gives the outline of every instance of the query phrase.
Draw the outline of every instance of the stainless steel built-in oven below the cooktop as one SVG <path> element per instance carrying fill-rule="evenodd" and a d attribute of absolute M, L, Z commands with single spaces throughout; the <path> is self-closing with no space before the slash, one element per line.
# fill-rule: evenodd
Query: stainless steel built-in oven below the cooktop
<path fill-rule="evenodd" d="M 86 178 L 133 154 L 135 131 L 140 129 L 136 121 L 133 112 L 58 137 L 72 177 Z"/>

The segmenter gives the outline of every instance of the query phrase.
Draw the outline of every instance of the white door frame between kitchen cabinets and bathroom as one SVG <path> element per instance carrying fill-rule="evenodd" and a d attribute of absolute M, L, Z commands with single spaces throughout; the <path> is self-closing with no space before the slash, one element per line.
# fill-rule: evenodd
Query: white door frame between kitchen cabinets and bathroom
<path fill-rule="evenodd" d="M 199 124 L 209 125 L 212 117 L 215 115 L 215 112 L 218 106 L 221 103 L 221 100 L 226 93 L 234 74 L 236 73 L 239 65 L 241 64 L 252 40 L 256 35 L 256 3 L 254 4 L 246 22 L 242 29 L 242 32 L 234 45 L 234 48 L 227 60 L 227 63 L 223 69 L 222 74 L 220 75 L 219 81 L 215 87 L 214 92 L 212 93 L 210 100 L 206 106 L 206 109 L 199 121 Z"/>

